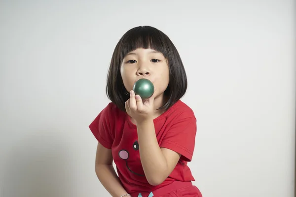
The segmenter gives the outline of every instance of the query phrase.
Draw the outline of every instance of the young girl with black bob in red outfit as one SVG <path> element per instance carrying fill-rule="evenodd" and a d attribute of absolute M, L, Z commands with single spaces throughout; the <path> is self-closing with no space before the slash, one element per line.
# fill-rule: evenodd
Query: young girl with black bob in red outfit
<path fill-rule="evenodd" d="M 133 91 L 142 78 L 155 88 L 145 100 Z M 111 102 L 89 126 L 98 140 L 95 172 L 112 197 L 202 197 L 187 166 L 196 119 L 180 100 L 186 89 L 183 63 L 167 35 L 144 26 L 122 36 L 108 72 Z"/>

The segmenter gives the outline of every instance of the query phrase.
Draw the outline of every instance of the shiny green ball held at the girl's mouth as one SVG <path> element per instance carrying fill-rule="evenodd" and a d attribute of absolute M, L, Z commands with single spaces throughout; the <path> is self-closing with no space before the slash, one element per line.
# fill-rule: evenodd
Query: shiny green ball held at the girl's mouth
<path fill-rule="evenodd" d="M 140 95 L 142 99 L 150 98 L 154 93 L 154 86 L 148 79 L 139 79 L 133 88 L 136 95 Z"/>

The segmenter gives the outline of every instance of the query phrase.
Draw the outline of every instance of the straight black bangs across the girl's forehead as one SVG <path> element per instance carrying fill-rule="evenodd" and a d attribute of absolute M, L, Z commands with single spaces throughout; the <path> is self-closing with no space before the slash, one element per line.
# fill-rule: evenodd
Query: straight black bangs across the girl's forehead
<path fill-rule="evenodd" d="M 126 32 L 120 40 L 120 59 L 122 60 L 126 54 L 137 48 L 153 49 L 163 54 L 165 58 L 168 57 L 167 43 L 169 39 L 156 28 L 143 26 L 136 27 Z"/>

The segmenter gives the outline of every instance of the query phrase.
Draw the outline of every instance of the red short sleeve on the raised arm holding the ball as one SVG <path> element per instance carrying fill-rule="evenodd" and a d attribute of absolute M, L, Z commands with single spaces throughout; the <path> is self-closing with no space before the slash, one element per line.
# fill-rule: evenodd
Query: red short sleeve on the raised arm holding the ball
<path fill-rule="evenodd" d="M 181 154 L 181 159 L 191 162 L 196 136 L 196 118 L 186 117 L 176 120 L 165 134 L 160 147 Z"/>

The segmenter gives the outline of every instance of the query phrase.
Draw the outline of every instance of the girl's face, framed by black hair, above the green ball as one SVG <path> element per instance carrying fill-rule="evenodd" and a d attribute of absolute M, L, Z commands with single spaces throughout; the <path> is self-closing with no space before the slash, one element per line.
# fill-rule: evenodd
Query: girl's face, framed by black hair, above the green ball
<path fill-rule="evenodd" d="M 169 66 L 162 53 L 152 49 L 138 48 L 128 53 L 120 67 L 123 84 L 127 91 L 133 90 L 139 79 L 149 79 L 155 88 L 155 96 L 163 97 L 169 84 Z"/>

